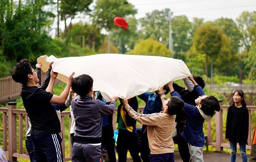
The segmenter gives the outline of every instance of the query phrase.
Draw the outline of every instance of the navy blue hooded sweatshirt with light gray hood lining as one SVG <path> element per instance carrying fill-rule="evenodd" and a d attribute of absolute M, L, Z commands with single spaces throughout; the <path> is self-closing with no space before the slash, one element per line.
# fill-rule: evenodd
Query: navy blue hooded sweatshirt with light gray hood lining
<path fill-rule="evenodd" d="M 203 89 L 196 85 L 194 90 L 198 93 L 198 96 L 205 95 Z M 180 99 L 180 95 L 173 91 L 171 96 L 178 96 Z M 197 106 L 193 106 L 184 102 L 184 112 L 186 113 L 186 123 L 184 127 L 184 131 L 181 133 L 181 136 L 190 144 L 196 147 L 204 146 L 204 132 L 203 132 L 203 124 L 204 120 L 207 122 L 212 120 L 211 116 L 204 114 L 204 112 L 198 108 Z"/>

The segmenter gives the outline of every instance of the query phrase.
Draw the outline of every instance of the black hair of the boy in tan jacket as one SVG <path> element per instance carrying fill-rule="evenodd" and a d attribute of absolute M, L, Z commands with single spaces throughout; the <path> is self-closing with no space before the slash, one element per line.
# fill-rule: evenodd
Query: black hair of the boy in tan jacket
<path fill-rule="evenodd" d="M 176 115 L 184 108 L 184 102 L 177 96 L 172 96 L 167 103 L 169 115 Z"/>

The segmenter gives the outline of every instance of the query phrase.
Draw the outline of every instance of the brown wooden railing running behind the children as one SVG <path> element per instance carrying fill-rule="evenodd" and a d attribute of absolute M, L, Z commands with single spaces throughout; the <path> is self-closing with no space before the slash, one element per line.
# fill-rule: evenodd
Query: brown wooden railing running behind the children
<path fill-rule="evenodd" d="M 0 107 L 0 112 L 3 113 L 3 144 L 0 143 L 0 145 L 3 146 L 3 150 L 5 151 L 6 155 L 9 156 L 10 162 L 15 162 L 17 160 L 17 157 L 29 159 L 28 153 L 26 151 L 23 151 L 23 150 L 26 150 L 26 149 L 23 149 L 23 141 L 26 139 L 26 131 L 23 131 L 24 129 L 23 125 L 25 125 L 25 130 L 27 130 L 29 127 L 28 115 L 26 113 L 26 110 L 16 109 L 16 102 L 9 102 L 8 105 L 9 105 L 8 108 Z M 143 108 L 144 107 L 139 107 L 138 111 L 141 113 L 143 111 Z M 223 141 L 222 110 L 227 108 L 228 106 L 221 106 L 220 112 L 216 113 L 216 116 L 215 116 L 216 142 L 211 141 L 211 124 L 210 122 L 207 123 L 208 143 L 209 145 L 215 146 L 217 151 L 222 151 L 224 147 L 227 147 L 227 148 L 230 147 L 228 143 L 222 142 Z M 250 123 L 251 110 L 256 110 L 256 106 L 247 106 L 247 108 L 249 109 L 249 123 Z M 116 114 L 115 114 L 116 111 L 117 109 L 113 113 L 114 129 L 116 128 Z M 61 132 L 63 133 L 63 140 L 61 143 L 61 147 L 62 147 L 64 161 L 69 161 L 71 160 L 71 157 L 72 157 L 72 145 L 70 141 L 70 134 L 69 133 L 65 134 L 65 123 L 64 123 L 65 116 L 68 116 L 69 118 L 69 129 L 70 129 L 70 126 L 71 126 L 70 111 L 64 111 L 61 113 Z M 65 137 L 69 139 L 69 155 L 65 155 L 65 140 L 64 140 Z M 17 139 L 18 139 L 18 143 L 17 143 Z M 248 144 L 249 145 L 247 145 L 246 148 L 250 149 L 250 144 L 251 144 L 251 125 L 250 124 L 249 124 Z"/>

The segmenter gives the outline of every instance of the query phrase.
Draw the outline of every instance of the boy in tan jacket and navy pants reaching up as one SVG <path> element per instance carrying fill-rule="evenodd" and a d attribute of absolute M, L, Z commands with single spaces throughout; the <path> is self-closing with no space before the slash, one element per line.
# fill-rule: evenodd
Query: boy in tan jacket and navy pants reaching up
<path fill-rule="evenodd" d="M 163 87 L 159 89 L 159 92 L 162 91 Z M 184 103 L 175 96 L 167 100 L 164 93 L 161 93 L 160 97 L 163 102 L 163 113 L 139 114 L 129 106 L 127 99 L 123 99 L 122 102 L 133 119 L 148 125 L 150 161 L 174 162 L 172 129 L 176 114 L 182 110 Z"/>

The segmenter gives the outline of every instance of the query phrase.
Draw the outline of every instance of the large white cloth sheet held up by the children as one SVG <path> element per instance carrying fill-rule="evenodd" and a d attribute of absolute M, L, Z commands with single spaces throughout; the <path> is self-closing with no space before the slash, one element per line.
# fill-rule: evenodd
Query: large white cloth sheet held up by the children
<path fill-rule="evenodd" d="M 94 80 L 93 90 L 100 90 L 107 101 L 111 101 L 113 95 L 132 98 L 191 75 L 182 60 L 160 56 L 98 54 L 55 58 L 44 55 L 37 61 L 43 64 L 43 71 L 47 71 L 49 63 L 54 61 L 53 71 L 66 83 L 72 72 L 75 72 L 74 77 L 90 75 Z"/>

